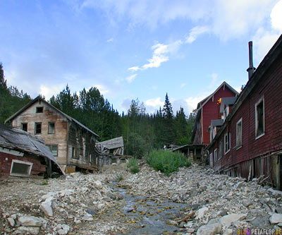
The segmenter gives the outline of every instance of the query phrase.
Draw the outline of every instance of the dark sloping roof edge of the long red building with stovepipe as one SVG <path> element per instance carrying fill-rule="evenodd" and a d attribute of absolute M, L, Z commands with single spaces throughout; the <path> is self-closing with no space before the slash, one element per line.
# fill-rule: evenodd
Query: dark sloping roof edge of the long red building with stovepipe
<path fill-rule="evenodd" d="M 262 62 L 259 64 L 255 72 L 252 74 L 250 79 L 247 81 L 247 84 L 245 85 L 245 88 L 238 96 L 235 104 L 233 105 L 231 112 L 226 117 L 226 120 L 223 123 L 223 126 L 219 129 L 219 132 L 214 137 L 214 140 L 212 140 L 212 143 L 207 146 L 207 149 L 209 147 L 212 147 L 214 142 L 219 138 L 219 135 L 223 132 L 223 130 L 226 128 L 227 123 L 231 121 L 235 113 L 240 108 L 241 104 L 243 104 L 244 100 L 247 98 L 248 95 L 250 95 L 250 92 L 255 88 L 255 85 L 259 83 L 259 81 L 264 77 L 264 73 L 269 70 L 271 65 L 278 59 L 279 56 L 282 56 L 282 35 L 278 38 L 276 43 L 273 47 L 269 50 L 269 52 L 266 54 Z"/>

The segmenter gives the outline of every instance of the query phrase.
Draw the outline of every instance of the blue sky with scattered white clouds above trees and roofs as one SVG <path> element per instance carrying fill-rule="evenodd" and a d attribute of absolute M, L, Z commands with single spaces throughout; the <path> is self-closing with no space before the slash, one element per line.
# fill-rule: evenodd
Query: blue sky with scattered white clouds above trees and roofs
<path fill-rule="evenodd" d="M 247 83 L 282 33 L 282 0 L 0 0 L 0 61 L 8 85 L 47 99 L 95 86 L 118 112 L 186 114 L 225 80 Z"/>

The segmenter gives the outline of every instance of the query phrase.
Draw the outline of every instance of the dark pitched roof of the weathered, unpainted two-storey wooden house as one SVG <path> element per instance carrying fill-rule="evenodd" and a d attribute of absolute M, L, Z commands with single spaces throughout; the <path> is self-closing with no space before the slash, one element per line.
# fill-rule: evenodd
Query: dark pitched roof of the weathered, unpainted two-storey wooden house
<path fill-rule="evenodd" d="M 53 105 L 49 104 L 47 101 L 43 100 L 40 96 L 37 96 L 34 100 L 32 100 L 31 102 L 29 102 L 28 104 L 26 104 L 23 108 L 21 108 L 20 110 L 18 110 L 18 112 L 16 112 L 15 114 L 13 114 L 12 116 L 10 116 L 6 121 L 12 121 L 16 116 L 18 116 L 19 114 L 21 114 L 22 112 L 25 111 L 25 109 L 27 109 L 28 107 L 32 106 L 32 104 L 35 104 L 35 102 L 37 101 L 41 101 L 44 102 L 44 104 L 47 104 L 49 107 L 51 107 L 52 109 L 55 109 L 56 112 L 59 112 L 59 114 L 61 114 L 62 116 L 64 116 L 66 119 L 68 119 L 68 121 L 72 121 L 76 124 L 78 124 L 78 126 L 84 128 L 85 130 L 89 131 L 90 133 L 92 133 L 93 135 L 96 135 L 97 137 L 99 137 L 99 135 L 97 135 L 97 133 L 94 133 L 94 131 L 91 131 L 90 128 L 87 128 L 86 126 L 84 126 L 82 123 L 80 123 L 78 120 L 73 119 L 71 116 L 68 116 L 68 114 L 65 114 L 63 112 L 61 112 L 60 109 L 57 109 L 56 107 L 54 107 Z"/>

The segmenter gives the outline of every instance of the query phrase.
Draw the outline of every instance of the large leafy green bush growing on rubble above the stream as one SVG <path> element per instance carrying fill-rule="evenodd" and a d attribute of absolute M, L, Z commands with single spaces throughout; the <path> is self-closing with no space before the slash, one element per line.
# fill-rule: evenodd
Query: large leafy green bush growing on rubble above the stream
<path fill-rule="evenodd" d="M 153 150 L 145 157 L 147 163 L 156 171 L 161 171 L 170 176 L 179 167 L 190 167 L 191 162 L 180 152 L 168 150 Z"/>

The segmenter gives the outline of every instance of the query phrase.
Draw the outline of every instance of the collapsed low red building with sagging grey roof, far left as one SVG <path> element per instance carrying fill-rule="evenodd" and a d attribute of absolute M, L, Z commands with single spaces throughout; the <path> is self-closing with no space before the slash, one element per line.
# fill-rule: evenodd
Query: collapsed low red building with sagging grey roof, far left
<path fill-rule="evenodd" d="M 0 178 L 63 174 L 42 138 L 0 123 Z"/>

